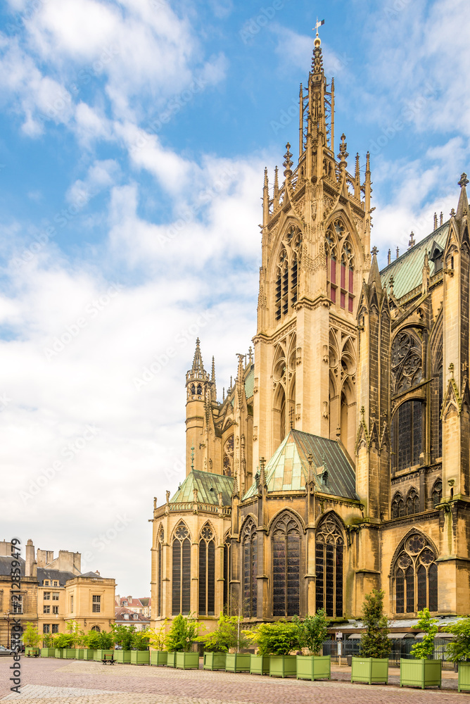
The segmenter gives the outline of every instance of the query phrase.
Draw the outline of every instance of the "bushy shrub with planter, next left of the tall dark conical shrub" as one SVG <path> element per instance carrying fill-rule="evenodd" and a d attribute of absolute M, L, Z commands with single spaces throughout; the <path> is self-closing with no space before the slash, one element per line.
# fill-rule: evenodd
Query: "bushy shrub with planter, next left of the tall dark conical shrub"
<path fill-rule="evenodd" d="M 320 655 L 323 641 L 328 636 L 328 619 L 324 609 L 303 621 L 297 617 L 300 648 L 307 648 L 309 655 L 297 655 L 297 679 L 331 679 L 331 656 Z"/>

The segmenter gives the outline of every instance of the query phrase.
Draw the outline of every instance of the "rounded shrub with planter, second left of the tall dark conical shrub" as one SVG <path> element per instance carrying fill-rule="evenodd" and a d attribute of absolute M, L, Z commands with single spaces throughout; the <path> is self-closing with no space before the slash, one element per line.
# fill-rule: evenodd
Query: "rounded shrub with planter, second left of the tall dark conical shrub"
<path fill-rule="evenodd" d="M 289 655 L 299 646 L 298 623 L 277 621 L 262 623 L 256 631 L 260 655 L 270 655 L 269 677 L 296 677 L 296 655 Z"/>

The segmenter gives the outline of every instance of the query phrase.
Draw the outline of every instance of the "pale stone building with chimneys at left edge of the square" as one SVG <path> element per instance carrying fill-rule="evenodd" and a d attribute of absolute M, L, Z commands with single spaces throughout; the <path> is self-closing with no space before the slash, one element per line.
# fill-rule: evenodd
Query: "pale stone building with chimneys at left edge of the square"
<path fill-rule="evenodd" d="M 99 572 L 81 570 L 80 553 L 34 549 L 25 546 L 25 559 L 19 558 L 20 598 L 12 600 L 12 548 L 0 542 L 0 643 L 11 636 L 13 617 L 21 624 L 32 622 L 39 633 L 65 633 L 68 622 L 76 621 L 84 631 L 110 631 L 114 623 L 115 580 Z M 23 626 L 24 627 L 24 626 Z"/>

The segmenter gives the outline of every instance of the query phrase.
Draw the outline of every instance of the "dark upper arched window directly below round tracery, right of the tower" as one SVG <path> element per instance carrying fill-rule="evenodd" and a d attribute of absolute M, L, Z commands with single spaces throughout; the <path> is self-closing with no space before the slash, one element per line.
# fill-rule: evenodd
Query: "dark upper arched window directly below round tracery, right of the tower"
<path fill-rule="evenodd" d="M 424 403 L 405 401 L 393 417 L 393 461 L 395 469 L 419 465 L 424 446 Z"/>

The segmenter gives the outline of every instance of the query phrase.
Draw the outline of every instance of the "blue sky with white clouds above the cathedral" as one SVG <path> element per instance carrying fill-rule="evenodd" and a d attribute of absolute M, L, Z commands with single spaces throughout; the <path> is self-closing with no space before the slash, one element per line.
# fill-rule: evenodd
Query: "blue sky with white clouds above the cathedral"
<path fill-rule="evenodd" d="M 465 0 L 1 3 L 0 539 L 150 594 L 196 337 L 221 400 L 255 334 L 263 170 L 298 157 L 317 18 L 383 266 L 470 172 Z"/>

